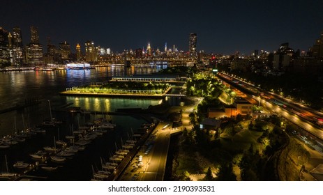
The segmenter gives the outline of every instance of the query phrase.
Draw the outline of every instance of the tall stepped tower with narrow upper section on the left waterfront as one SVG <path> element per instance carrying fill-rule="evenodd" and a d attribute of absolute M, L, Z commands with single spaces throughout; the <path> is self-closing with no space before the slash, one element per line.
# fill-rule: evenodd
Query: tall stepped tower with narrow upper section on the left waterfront
<path fill-rule="evenodd" d="M 29 65 L 43 65 L 43 45 L 39 43 L 38 29 L 30 28 L 31 42 L 26 46 L 26 61 Z"/>

